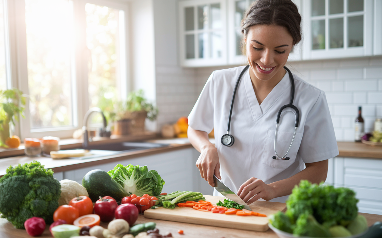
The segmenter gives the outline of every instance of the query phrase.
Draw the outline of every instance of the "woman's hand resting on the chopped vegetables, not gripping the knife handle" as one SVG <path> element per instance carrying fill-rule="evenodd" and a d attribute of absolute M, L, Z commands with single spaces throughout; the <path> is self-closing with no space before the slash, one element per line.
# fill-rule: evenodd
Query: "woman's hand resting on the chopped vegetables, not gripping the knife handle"
<path fill-rule="evenodd" d="M 254 177 L 242 184 L 238 191 L 238 196 L 247 204 L 251 204 L 259 200 L 259 198 L 269 201 L 275 198 L 275 194 L 276 192 L 273 187 Z"/>

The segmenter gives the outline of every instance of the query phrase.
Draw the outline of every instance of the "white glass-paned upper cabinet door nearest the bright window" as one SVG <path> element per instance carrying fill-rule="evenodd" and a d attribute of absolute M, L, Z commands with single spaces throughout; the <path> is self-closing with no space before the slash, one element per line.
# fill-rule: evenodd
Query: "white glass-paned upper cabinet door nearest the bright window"
<path fill-rule="evenodd" d="M 224 2 L 216 0 L 180 2 L 183 65 L 219 65 L 226 60 L 222 5 Z"/>

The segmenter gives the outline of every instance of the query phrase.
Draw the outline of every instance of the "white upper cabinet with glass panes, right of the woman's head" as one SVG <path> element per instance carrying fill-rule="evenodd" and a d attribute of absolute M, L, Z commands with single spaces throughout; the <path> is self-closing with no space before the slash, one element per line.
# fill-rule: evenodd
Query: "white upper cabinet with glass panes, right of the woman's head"
<path fill-rule="evenodd" d="M 380 45 L 378 42 L 380 43 L 381 37 L 377 32 L 382 25 L 381 21 L 377 21 L 377 15 L 382 11 L 379 2 L 378 0 L 303 1 L 303 59 L 376 54 L 378 49 L 373 51 L 373 40 Z"/>

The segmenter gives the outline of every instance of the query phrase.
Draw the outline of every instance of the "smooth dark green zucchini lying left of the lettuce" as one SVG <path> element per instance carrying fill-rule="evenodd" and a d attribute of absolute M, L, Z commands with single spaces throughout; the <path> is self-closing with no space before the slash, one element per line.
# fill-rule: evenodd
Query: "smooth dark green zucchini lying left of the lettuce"
<path fill-rule="evenodd" d="M 100 196 L 111 196 L 117 202 L 121 202 L 122 198 L 129 196 L 123 187 L 102 169 L 87 172 L 82 179 L 82 186 L 86 188 L 89 198 L 93 202 L 99 200 Z"/>

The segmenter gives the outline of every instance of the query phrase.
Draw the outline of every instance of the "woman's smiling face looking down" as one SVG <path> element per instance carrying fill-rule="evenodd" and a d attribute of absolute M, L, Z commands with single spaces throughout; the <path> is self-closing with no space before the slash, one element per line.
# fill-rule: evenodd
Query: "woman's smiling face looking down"
<path fill-rule="evenodd" d="M 247 59 L 254 76 L 259 80 L 281 80 L 283 69 L 293 46 L 288 30 L 276 25 L 255 25 L 244 38 Z"/>

